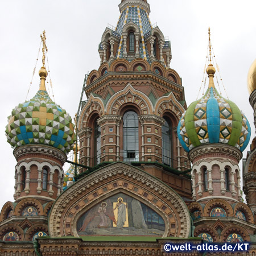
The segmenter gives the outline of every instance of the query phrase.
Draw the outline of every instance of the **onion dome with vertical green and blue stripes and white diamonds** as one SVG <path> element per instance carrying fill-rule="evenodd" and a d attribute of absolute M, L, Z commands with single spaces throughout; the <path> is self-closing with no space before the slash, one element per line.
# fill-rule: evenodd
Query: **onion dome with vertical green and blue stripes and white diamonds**
<path fill-rule="evenodd" d="M 224 143 L 243 151 L 249 143 L 249 122 L 236 104 L 217 92 L 214 73 L 215 68 L 209 64 L 207 92 L 189 105 L 179 121 L 177 134 L 187 152 L 207 143 Z"/>

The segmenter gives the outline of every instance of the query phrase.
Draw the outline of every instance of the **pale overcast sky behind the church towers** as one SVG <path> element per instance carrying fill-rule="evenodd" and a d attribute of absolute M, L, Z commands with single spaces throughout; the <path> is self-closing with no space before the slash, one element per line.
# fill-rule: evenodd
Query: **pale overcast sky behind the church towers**
<path fill-rule="evenodd" d="M 46 30 L 49 68 L 55 102 L 74 117 L 84 75 L 100 66 L 98 44 L 108 23 L 116 26 L 121 0 L 0 0 L 1 198 L 0 208 L 14 201 L 13 149 L 5 126 L 11 110 L 26 100 L 40 45 Z M 148 0 L 150 20 L 157 22 L 172 46 L 171 68 L 183 81 L 187 105 L 201 86 L 208 46 L 212 45 L 229 99 L 245 112 L 254 137 L 253 110 L 247 92 L 247 72 L 256 58 L 255 0 Z M 38 71 L 27 99 L 39 88 Z M 222 92 L 224 91 L 221 88 Z M 225 96 L 225 94 L 223 94 Z M 246 151 L 246 150 L 245 150 Z M 244 156 L 246 154 L 244 153 Z M 64 169 L 67 170 L 68 164 Z"/>

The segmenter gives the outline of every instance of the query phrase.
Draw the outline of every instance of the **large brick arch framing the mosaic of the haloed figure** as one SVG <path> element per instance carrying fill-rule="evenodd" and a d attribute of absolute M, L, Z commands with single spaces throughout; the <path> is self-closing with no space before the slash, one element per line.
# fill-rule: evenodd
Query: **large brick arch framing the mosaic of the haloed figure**
<path fill-rule="evenodd" d="M 97 184 L 99 180 L 101 187 Z M 160 214 L 166 224 L 163 237 L 189 236 L 190 215 L 181 197 L 162 181 L 139 168 L 121 162 L 85 176 L 58 197 L 49 216 L 50 236 L 78 236 L 72 226 L 76 226 L 81 214 L 118 192 L 143 201 Z"/>

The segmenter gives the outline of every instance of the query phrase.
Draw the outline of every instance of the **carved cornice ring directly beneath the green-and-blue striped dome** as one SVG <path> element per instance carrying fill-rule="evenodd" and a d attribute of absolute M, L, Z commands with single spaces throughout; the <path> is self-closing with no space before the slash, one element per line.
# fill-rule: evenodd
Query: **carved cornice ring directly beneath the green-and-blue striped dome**
<path fill-rule="evenodd" d="M 222 143 L 209 143 L 195 147 L 188 152 L 188 158 L 189 160 L 191 160 L 191 162 L 193 162 L 193 160 L 197 156 L 201 156 L 203 154 L 208 153 L 226 154 L 232 156 L 233 158 L 236 158 L 237 162 L 239 162 L 240 159 L 242 158 L 242 152 L 240 150 L 238 150 L 236 147 Z"/>

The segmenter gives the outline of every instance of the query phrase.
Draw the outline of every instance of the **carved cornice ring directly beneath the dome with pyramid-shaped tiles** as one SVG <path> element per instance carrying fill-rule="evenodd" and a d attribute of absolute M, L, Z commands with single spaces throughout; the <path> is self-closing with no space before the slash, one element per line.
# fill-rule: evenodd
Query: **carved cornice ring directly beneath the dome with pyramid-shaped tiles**
<path fill-rule="evenodd" d="M 51 158 L 55 158 L 61 161 L 62 164 L 64 164 L 67 161 L 67 155 L 58 150 L 55 147 L 47 146 L 44 144 L 28 144 L 25 146 L 20 146 L 15 148 L 13 151 L 13 154 L 18 162 L 18 159 L 27 154 L 40 154 L 40 155 L 47 155 L 51 156 Z M 40 156 L 42 158 L 42 156 Z"/>

